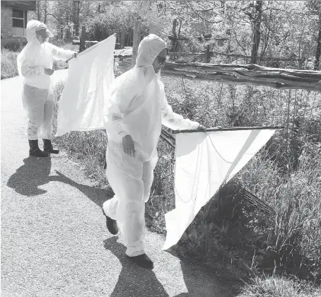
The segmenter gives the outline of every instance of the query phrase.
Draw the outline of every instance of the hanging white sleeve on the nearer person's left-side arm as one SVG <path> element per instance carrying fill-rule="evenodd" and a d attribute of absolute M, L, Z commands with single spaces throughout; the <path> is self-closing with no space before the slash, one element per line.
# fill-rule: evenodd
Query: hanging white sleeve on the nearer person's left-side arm
<path fill-rule="evenodd" d="M 134 91 L 136 88 L 132 81 L 127 80 L 119 88 L 112 91 L 105 114 L 107 117 L 107 132 L 117 134 L 121 138 L 129 135 L 129 129 L 123 119 L 124 115 L 127 114 L 129 104 L 136 95 Z"/>

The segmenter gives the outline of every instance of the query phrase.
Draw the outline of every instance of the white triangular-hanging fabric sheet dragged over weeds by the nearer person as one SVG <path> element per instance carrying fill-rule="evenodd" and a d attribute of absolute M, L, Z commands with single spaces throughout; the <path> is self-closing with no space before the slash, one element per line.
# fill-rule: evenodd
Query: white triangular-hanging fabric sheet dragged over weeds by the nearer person
<path fill-rule="evenodd" d="M 275 129 L 176 135 L 175 209 L 165 214 L 163 250 L 175 245 L 223 182 L 228 182 L 272 137 Z"/>

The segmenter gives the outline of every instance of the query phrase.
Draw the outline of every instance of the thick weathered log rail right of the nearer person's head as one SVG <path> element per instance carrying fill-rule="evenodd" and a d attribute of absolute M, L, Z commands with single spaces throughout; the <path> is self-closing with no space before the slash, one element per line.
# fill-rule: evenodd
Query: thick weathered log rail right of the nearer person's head
<path fill-rule="evenodd" d="M 255 64 L 166 62 L 162 74 L 205 81 L 321 91 L 321 71 L 279 69 Z"/>

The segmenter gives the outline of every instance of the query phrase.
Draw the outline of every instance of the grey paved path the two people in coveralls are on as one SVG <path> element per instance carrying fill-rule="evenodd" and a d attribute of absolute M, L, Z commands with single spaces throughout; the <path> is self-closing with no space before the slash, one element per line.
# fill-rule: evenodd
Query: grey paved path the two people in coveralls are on
<path fill-rule="evenodd" d="M 155 233 L 146 233 L 153 271 L 128 262 L 106 231 L 105 199 L 64 152 L 28 157 L 21 78 L 2 80 L 1 296 L 235 296 L 202 267 L 161 252 Z"/>

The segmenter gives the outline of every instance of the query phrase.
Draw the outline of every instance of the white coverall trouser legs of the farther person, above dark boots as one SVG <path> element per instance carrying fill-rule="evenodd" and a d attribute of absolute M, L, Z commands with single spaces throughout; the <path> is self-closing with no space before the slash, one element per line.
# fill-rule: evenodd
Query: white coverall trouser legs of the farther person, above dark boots
<path fill-rule="evenodd" d="M 23 107 L 27 115 L 28 139 L 37 140 L 43 122 L 48 91 L 32 86 L 23 86 Z"/>

